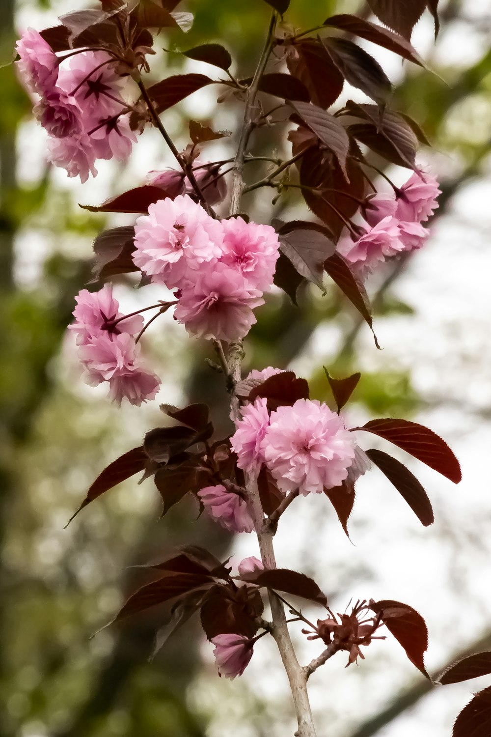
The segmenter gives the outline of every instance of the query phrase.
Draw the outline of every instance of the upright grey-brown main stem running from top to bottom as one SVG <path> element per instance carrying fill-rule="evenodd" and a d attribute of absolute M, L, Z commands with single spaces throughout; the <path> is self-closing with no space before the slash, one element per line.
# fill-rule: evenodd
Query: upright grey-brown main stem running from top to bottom
<path fill-rule="evenodd" d="M 233 181 L 232 196 L 230 200 L 230 215 L 239 212 L 241 203 L 241 195 L 244 191 L 244 160 L 246 156 L 247 143 L 252 131 L 253 111 L 255 105 L 255 97 L 258 94 L 261 77 L 266 68 L 266 63 L 271 54 L 274 43 L 274 30 L 276 24 L 276 13 L 272 13 L 269 29 L 264 43 L 264 49 L 261 53 L 257 69 L 250 87 L 247 89 L 247 97 L 244 107 L 244 117 L 242 119 L 241 132 L 239 135 L 239 143 L 237 145 L 236 158 L 233 164 Z M 228 358 L 228 374 L 234 383 L 241 380 L 241 357 L 242 352 L 240 346 L 231 346 Z M 232 401 L 232 411 L 234 416 L 238 416 L 239 402 Z M 264 512 L 259 499 L 258 485 L 255 478 L 250 475 L 246 477 L 247 495 L 250 500 L 252 517 L 255 523 L 255 529 L 258 534 L 259 549 L 263 563 L 268 568 L 276 567 L 275 551 L 273 549 L 273 532 L 264 519 Z M 304 668 L 300 666 L 295 654 L 292 640 L 290 638 L 288 624 L 286 623 L 285 610 L 282 602 L 274 593 L 269 593 L 269 605 L 272 615 L 272 636 L 278 645 L 280 657 L 283 661 L 286 674 L 288 676 L 292 697 L 294 702 L 295 714 L 298 722 L 298 737 L 316 737 L 314 729 L 314 720 L 307 694 L 307 674 Z"/>

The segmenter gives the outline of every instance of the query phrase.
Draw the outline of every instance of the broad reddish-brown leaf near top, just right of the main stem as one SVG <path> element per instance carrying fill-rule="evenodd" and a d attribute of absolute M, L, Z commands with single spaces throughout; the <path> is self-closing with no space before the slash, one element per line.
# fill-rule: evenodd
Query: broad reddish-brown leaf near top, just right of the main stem
<path fill-rule="evenodd" d="M 305 38 L 295 43 L 287 50 L 286 66 L 319 108 L 330 108 L 342 93 L 345 80 L 320 41 Z"/>

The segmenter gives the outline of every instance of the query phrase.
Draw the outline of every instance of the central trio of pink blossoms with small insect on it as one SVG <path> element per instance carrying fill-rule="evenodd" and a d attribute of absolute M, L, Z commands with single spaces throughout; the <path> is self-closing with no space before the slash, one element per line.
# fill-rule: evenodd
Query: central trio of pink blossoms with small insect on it
<path fill-rule="evenodd" d="M 149 206 L 135 224 L 133 261 L 152 282 L 176 289 L 175 317 L 191 335 L 240 340 L 264 304 L 278 259 L 271 226 L 216 220 L 188 195 Z"/>

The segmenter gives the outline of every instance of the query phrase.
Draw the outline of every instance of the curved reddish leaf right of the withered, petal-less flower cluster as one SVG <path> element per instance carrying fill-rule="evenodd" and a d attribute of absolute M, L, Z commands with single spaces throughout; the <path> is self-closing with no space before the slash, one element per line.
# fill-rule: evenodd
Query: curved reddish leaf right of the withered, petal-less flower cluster
<path fill-rule="evenodd" d="M 424 657 L 428 649 L 428 629 L 416 609 L 399 601 L 370 601 L 370 609 L 381 615 L 386 628 L 406 650 L 406 655 L 423 676 L 431 680 L 425 670 Z"/>

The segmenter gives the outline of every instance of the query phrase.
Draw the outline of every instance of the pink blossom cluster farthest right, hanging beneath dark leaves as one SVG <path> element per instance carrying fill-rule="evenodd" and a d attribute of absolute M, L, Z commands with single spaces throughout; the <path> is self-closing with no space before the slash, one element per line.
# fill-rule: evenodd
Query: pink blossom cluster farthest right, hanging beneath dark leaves
<path fill-rule="evenodd" d="M 366 222 L 357 234 L 344 235 L 337 250 L 362 279 L 391 256 L 421 248 L 428 238 L 423 227 L 438 207 L 437 180 L 417 170 L 392 195 L 378 194 L 364 208 Z"/>

